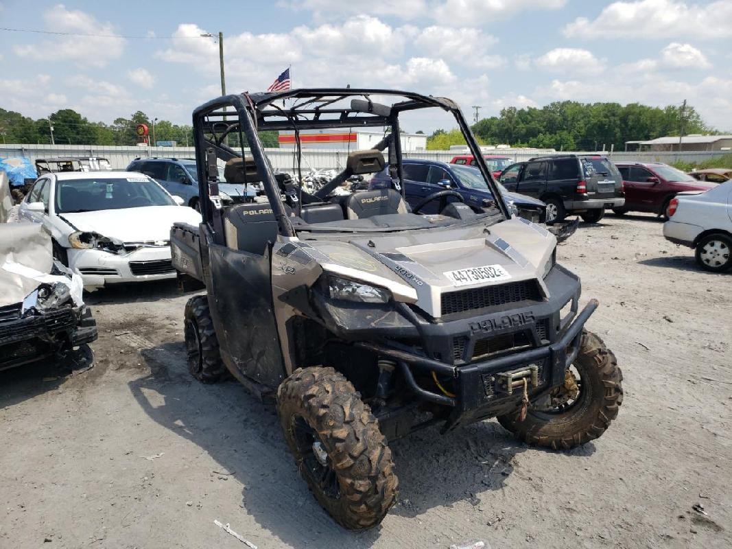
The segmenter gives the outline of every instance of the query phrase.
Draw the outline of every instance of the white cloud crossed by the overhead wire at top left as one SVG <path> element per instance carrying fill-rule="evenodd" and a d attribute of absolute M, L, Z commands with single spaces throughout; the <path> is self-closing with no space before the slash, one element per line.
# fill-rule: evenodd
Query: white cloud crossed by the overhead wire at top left
<path fill-rule="evenodd" d="M 101 23 L 81 10 L 67 10 L 64 4 L 46 11 L 43 20 L 53 31 L 116 36 L 112 23 Z M 80 66 L 104 67 L 122 56 L 125 43 L 119 37 L 65 36 L 38 44 L 15 45 L 12 51 L 34 61 L 76 61 Z"/>

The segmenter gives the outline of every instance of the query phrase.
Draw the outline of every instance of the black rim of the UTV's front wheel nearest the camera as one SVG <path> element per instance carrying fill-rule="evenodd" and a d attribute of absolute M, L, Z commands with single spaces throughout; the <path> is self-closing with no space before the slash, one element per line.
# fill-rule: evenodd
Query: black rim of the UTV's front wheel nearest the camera
<path fill-rule="evenodd" d="M 302 416 L 292 417 L 291 433 L 297 455 L 302 460 L 300 468 L 310 486 L 321 492 L 326 498 L 340 499 L 340 484 L 338 484 L 338 476 L 332 466 L 330 456 L 327 456 L 325 463 L 321 463 L 322 460 L 315 454 L 316 445 L 319 445 L 324 451 L 324 444 L 318 433 L 308 425 Z"/>

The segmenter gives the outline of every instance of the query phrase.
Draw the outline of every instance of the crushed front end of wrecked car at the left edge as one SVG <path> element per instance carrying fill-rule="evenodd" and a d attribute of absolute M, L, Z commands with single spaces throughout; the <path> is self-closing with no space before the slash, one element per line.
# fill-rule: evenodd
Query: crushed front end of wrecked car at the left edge
<path fill-rule="evenodd" d="M 0 370 L 97 339 L 81 277 L 53 259 L 42 225 L 0 225 L 0 287 Z"/>

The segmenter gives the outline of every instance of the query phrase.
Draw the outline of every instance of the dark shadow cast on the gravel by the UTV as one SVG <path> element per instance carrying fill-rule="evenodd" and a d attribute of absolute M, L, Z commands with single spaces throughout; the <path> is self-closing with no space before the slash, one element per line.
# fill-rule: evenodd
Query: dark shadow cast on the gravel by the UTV
<path fill-rule="evenodd" d="M 275 407 L 260 403 L 235 381 L 203 386 L 187 373 L 183 343 L 141 351 L 151 374 L 129 387 L 155 422 L 187 438 L 244 485 L 241 506 L 262 526 L 294 547 L 368 548 L 380 529 L 351 532 L 318 506 L 299 477 L 280 433 Z M 152 406 L 146 394 L 162 396 Z M 413 518 L 460 502 L 491 504 L 526 446 L 497 422 L 480 422 L 447 435 L 437 427 L 390 444 L 400 480 L 392 515 Z M 591 455 L 594 446 L 572 452 Z"/>

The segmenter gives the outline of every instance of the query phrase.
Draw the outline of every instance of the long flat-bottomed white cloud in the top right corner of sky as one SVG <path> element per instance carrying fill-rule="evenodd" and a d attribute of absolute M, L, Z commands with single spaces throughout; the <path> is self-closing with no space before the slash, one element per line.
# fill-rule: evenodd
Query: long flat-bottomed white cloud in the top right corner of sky
<path fill-rule="evenodd" d="M 586 39 L 693 36 L 720 40 L 732 37 L 732 2 L 616 1 L 605 7 L 594 20 L 586 17 L 575 19 L 564 27 L 563 33 L 566 37 Z"/>

